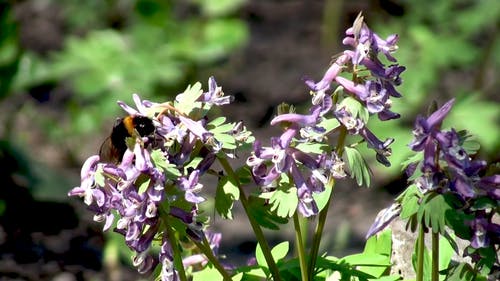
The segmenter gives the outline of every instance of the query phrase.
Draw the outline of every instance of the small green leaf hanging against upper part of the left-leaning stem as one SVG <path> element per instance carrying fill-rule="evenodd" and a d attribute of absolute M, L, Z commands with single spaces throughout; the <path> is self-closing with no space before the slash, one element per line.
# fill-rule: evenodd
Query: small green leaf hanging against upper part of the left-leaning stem
<path fill-rule="evenodd" d="M 233 219 L 231 212 L 233 202 L 239 198 L 240 192 L 234 180 L 228 176 L 221 177 L 215 194 L 215 209 L 217 213 L 225 219 Z"/>

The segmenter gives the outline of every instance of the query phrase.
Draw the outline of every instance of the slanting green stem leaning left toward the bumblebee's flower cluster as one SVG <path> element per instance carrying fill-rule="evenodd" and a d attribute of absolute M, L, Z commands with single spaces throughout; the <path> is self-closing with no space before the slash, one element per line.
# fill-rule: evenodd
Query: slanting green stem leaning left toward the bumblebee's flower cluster
<path fill-rule="evenodd" d="M 264 236 L 264 232 L 259 226 L 259 223 L 253 218 L 253 216 L 250 214 L 249 206 L 248 206 L 248 199 L 245 195 L 245 191 L 243 190 L 243 187 L 241 186 L 240 179 L 238 176 L 234 173 L 233 168 L 225 158 L 218 158 L 219 162 L 221 163 L 222 167 L 226 171 L 227 175 L 231 177 L 234 182 L 236 183 L 238 190 L 240 192 L 240 202 L 241 205 L 243 206 L 243 209 L 245 210 L 245 213 L 248 217 L 248 220 L 250 221 L 250 225 L 252 226 L 252 230 L 255 234 L 255 237 L 257 238 L 257 241 L 260 245 L 260 248 L 262 249 L 262 253 L 264 254 L 264 258 L 266 259 L 267 266 L 269 267 L 269 270 L 271 271 L 271 275 L 273 276 L 274 281 L 281 281 L 281 277 L 279 274 L 278 266 L 276 265 L 276 262 L 273 259 L 273 256 L 271 254 L 271 248 L 269 247 L 269 244 L 267 244 L 266 237 Z"/>

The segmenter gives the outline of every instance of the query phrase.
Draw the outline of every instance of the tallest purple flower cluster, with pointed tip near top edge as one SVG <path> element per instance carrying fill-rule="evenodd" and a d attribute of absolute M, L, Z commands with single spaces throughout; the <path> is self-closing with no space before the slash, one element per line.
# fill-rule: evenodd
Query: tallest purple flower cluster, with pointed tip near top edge
<path fill-rule="evenodd" d="M 317 96 L 325 95 L 330 89 L 332 82 L 338 84 L 345 93 L 359 101 L 371 114 L 377 114 L 382 121 L 397 119 L 398 113 L 390 110 L 391 97 L 399 98 L 401 94 L 396 91 L 396 86 L 401 85 L 401 73 L 404 66 L 398 65 L 396 59 L 391 55 L 397 50 L 398 36 L 390 35 L 385 40 L 371 31 L 363 22 L 360 15 L 353 26 L 346 31 L 343 43 L 351 46 L 354 50 L 346 50 L 339 55 L 326 71 L 321 81 L 314 83 L 307 79 L 306 84 Z M 385 66 L 380 57 L 383 54 L 390 65 Z M 368 70 L 370 75 L 359 75 L 360 72 Z M 352 80 L 346 79 L 340 74 L 350 73 Z M 337 104 L 333 109 L 334 116 L 347 128 L 351 135 L 360 135 L 367 142 L 368 147 L 376 152 L 377 160 L 389 166 L 387 159 L 391 154 L 389 145 L 394 139 L 381 141 L 367 127 L 367 120 L 356 116 L 355 112 L 347 106 Z"/>

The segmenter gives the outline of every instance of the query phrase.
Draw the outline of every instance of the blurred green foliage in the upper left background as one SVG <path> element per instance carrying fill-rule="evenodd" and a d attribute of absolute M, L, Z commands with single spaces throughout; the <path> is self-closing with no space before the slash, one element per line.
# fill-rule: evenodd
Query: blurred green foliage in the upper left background
<path fill-rule="evenodd" d="M 49 85 L 44 94 L 56 95 L 61 91 L 55 89 L 69 88 L 62 109 L 67 120 L 36 118 L 55 142 L 96 132 L 122 116 L 116 101 L 130 102 L 132 93 L 158 100 L 177 94 L 198 68 L 241 47 L 248 33 L 234 16 L 242 1 L 46 2 L 61 9 L 67 28 L 63 47 L 46 56 L 23 52 L 9 92 Z M 0 52 L 0 58 L 7 55 L 12 56 Z"/>

